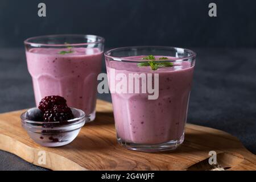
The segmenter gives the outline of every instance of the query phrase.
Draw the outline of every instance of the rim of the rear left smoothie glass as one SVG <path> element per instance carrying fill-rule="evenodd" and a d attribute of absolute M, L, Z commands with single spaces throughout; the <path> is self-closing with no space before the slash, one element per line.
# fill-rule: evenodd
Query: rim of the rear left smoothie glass
<path fill-rule="evenodd" d="M 94 36 L 95 38 L 99 38 L 100 40 L 94 41 L 94 42 L 89 42 L 89 43 L 71 43 L 71 44 L 46 44 L 46 43 L 34 43 L 30 42 L 31 40 L 35 39 L 40 39 L 40 38 L 57 38 L 57 37 L 76 37 L 80 36 L 81 38 L 88 38 L 88 36 Z M 105 39 L 102 38 L 101 36 L 98 35 L 90 35 L 90 34 L 55 34 L 55 35 L 40 35 L 40 36 L 33 36 L 31 38 L 27 38 L 24 40 L 25 45 L 31 45 L 34 47 L 39 47 L 39 46 L 48 46 L 48 47 L 63 47 L 63 46 L 85 46 L 85 45 L 91 45 L 91 44 L 100 44 L 104 43 Z"/>

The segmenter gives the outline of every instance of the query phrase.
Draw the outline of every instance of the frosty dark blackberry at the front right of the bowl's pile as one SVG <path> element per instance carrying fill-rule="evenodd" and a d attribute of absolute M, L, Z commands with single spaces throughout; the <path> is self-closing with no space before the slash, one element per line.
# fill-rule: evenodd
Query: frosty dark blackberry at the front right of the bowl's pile
<path fill-rule="evenodd" d="M 44 113 L 44 122 L 63 122 L 73 119 L 74 115 L 67 105 L 55 105 Z"/>

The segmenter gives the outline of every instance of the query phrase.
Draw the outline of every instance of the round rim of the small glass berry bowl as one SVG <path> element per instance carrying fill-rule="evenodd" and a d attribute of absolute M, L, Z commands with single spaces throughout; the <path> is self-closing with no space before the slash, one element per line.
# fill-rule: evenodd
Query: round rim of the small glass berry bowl
<path fill-rule="evenodd" d="M 37 107 L 32 107 L 32 108 L 30 108 L 30 109 L 34 109 L 34 108 L 37 108 Z M 79 112 L 81 113 L 81 115 L 80 115 L 80 117 L 73 118 L 73 119 L 69 119 L 69 120 L 64 121 L 64 122 L 68 122 L 68 123 L 72 124 L 72 123 L 75 123 L 75 122 L 80 121 L 81 119 L 85 118 L 85 112 L 84 112 L 84 111 L 82 111 L 81 109 L 76 109 L 76 108 L 74 108 L 74 107 L 70 107 L 70 108 L 79 111 Z M 59 124 L 59 123 L 63 122 L 63 121 L 61 121 L 61 122 L 60 122 L 60 121 L 55 121 L 55 122 L 32 121 L 32 120 L 27 119 L 27 118 L 25 117 L 25 114 L 26 114 L 27 111 L 30 110 L 30 109 L 27 109 L 27 110 L 24 111 L 22 114 L 20 114 L 20 119 L 22 119 L 22 122 L 25 122 L 25 123 L 32 123 L 32 124 L 39 124 L 39 125 L 44 125 L 44 124 L 46 124 L 46 123 L 48 123 L 48 124 L 49 124 L 49 123 L 50 123 L 50 124 Z"/>

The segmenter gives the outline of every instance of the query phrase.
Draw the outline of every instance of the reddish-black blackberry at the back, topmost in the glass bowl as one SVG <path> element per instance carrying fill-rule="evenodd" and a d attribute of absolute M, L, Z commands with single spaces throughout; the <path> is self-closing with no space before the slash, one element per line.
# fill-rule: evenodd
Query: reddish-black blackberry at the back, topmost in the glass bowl
<path fill-rule="evenodd" d="M 55 105 L 65 105 L 67 106 L 67 101 L 65 98 L 60 96 L 47 96 L 42 98 L 39 103 L 38 108 L 45 113 L 47 110 L 52 109 Z"/>

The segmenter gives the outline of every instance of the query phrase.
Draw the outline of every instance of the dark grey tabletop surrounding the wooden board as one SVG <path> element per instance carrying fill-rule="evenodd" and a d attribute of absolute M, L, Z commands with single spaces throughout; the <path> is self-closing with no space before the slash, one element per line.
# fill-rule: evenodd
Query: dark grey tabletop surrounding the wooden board
<path fill-rule="evenodd" d="M 226 131 L 256 154 L 256 49 L 193 50 L 197 61 L 188 122 Z M 109 94 L 98 98 L 111 101 Z M 0 49 L 0 113 L 33 106 L 24 49 Z M 0 170 L 46 169 L 0 151 Z"/>

